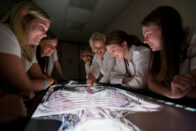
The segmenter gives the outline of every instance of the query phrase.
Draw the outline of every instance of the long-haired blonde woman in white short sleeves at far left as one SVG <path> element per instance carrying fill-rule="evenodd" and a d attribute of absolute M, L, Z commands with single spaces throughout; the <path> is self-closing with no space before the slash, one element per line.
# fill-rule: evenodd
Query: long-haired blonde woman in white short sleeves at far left
<path fill-rule="evenodd" d="M 26 59 L 32 64 L 36 46 L 46 37 L 51 23 L 48 15 L 34 3 L 23 1 L 13 7 L 1 22 L 0 78 L 6 85 L 4 91 L 40 91 L 49 86 L 52 79 L 30 80 L 21 62 Z"/>

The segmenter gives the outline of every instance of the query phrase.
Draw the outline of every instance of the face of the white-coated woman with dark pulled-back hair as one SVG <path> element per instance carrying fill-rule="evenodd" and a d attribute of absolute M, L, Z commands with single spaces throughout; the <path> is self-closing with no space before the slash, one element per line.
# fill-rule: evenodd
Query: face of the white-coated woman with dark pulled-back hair
<path fill-rule="evenodd" d="M 118 44 L 110 44 L 107 45 L 106 48 L 110 52 L 111 56 L 118 60 L 122 60 L 125 57 L 125 48 Z"/>

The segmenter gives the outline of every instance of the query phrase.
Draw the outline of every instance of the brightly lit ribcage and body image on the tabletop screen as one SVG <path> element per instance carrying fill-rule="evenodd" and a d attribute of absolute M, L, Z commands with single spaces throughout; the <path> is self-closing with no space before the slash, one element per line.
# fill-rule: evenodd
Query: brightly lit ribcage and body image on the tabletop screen
<path fill-rule="evenodd" d="M 160 108 L 125 90 L 70 82 L 52 86 L 32 117 L 61 121 L 58 131 L 139 131 L 126 115 Z"/>

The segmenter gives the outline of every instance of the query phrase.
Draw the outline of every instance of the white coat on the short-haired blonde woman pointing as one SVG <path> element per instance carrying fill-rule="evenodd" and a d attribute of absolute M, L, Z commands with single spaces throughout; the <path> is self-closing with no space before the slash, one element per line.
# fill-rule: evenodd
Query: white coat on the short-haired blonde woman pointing
<path fill-rule="evenodd" d="M 103 60 L 95 54 L 89 73 L 92 73 L 96 79 L 102 74 L 103 77 L 99 82 L 109 83 L 111 71 L 116 63 L 115 61 L 115 58 L 112 57 L 108 51 L 105 52 Z"/>

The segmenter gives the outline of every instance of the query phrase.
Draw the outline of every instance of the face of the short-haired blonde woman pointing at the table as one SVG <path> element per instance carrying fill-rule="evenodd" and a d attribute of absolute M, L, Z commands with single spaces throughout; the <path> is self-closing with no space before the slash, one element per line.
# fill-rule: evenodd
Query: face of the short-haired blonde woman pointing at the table
<path fill-rule="evenodd" d="M 105 43 L 103 40 L 96 40 L 93 42 L 93 51 L 95 54 L 100 56 L 101 58 L 104 58 L 104 54 L 106 52 Z"/>

